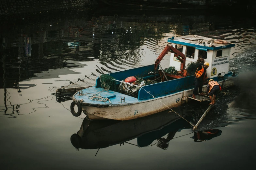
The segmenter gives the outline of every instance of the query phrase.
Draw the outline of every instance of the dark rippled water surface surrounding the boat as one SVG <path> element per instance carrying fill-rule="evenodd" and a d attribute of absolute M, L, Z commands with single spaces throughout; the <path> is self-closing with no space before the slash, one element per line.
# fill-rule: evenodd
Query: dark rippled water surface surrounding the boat
<path fill-rule="evenodd" d="M 256 168 L 254 14 L 94 7 L 1 21 L 1 169 Z M 189 34 L 236 43 L 230 71 L 239 74 L 198 133 L 168 111 L 90 122 L 84 114 L 72 116 L 72 100 L 58 103 L 52 94 L 85 76 L 84 84 L 93 85 L 100 75 L 96 65 L 111 73 L 153 64 L 168 37 Z M 206 107 L 191 103 L 174 110 L 196 123 Z"/>

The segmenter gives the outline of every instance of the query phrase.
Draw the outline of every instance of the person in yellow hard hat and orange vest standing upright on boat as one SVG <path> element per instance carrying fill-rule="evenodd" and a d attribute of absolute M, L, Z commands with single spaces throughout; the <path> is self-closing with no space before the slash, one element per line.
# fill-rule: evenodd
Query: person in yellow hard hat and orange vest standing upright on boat
<path fill-rule="evenodd" d="M 202 92 L 202 88 L 203 88 L 203 81 L 205 80 L 205 78 L 207 79 L 207 73 L 206 73 L 206 69 L 209 67 L 209 63 L 205 62 L 204 64 L 199 63 L 198 64 L 198 68 L 196 70 L 195 73 L 195 89 L 193 91 L 193 95 L 192 97 L 195 99 L 196 96 L 198 94 L 198 89 L 199 89 L 199 95 L 202 96 L 204 95 L 204 93 Z"/>

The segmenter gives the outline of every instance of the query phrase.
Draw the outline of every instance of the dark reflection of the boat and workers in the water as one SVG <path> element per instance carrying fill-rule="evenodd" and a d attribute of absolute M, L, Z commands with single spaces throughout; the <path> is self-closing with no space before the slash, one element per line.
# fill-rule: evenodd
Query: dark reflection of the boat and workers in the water
<path fill-rule="evenodd" d="M 180 111 L 186 119 L 192 118 L 189 112 Z M 80 130 L 71 136 L 71 143 L 76 149 L 100 149 L 137 138 L 138 147 L 156 145 L 167 149 L 169 141 L 182 129 L 189 129 L 191 125 L 179 115 L 168 111 L 134 120 L 88 120 L 84 119 Z M 208 131 L 210 133 L 208 133 Z M 221 134 L 220 130 L 194 132 L 195 141 L 210 140 Z M 193 132 L 189 133 L 192 134 Z M 205 134 L 206 133 L 206 134 Z M 187 134 L 187 135 L 189 135 Z M 163 136 L 167 135 L 166 138 Z M 179 137 L 179 136 L 178 136 Z M 175 137 L 177 138 L 177 137 Z M 153 143 L 153 141 L 155 141 Z M 128 143 L 130 144 L 130 143 Z M 134 145 L 134 144 L 132 144 Z"/>

